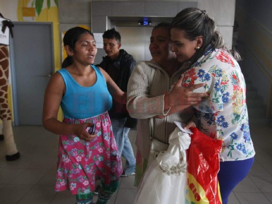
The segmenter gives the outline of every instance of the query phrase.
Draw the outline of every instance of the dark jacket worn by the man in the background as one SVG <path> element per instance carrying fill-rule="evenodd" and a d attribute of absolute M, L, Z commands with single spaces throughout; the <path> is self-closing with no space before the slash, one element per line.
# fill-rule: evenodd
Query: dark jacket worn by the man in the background
<path fill-rule="evenodd" d="M 124 92 L 127 92 L 127 86 L 129 78 L 133 68 L 136 65 L 136 61 L 133 56 L 128 54 L 125 50 L 119 50 L 119 56 L 115 61 L 112 61 L 110 57 L 103 57 L 103 61 L 96 66 L 102 67 L 107 73 L 109 73 L 110 65 L 114 65 L 117 71 L 118 77 L 114 80 L 117 86 Z M 110 73 L 109 73 L 110 74 Z M 109 116 L 114 119 L 127 118 L 125 126 L 134 128 L 137 124 L 137 119 L 131 118 L 126 104 L 119 104 L 113 100 L 112 108 L 109 110 Z"/>

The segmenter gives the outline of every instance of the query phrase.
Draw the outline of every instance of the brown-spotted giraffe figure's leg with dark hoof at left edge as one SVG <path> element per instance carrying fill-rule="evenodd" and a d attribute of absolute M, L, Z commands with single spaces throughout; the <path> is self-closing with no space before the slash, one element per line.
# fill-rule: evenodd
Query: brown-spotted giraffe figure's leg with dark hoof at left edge
<path fill-rule="evenodd" d="M 8 84 L 9 49 L 7 45 L 0 45 L 0 119 L 3 121 L 3 135 L 7 148 L 6 160 L 14 161 L 20 158 L 20 152 L 13 136 L 11 111 L 8 105 Z"/>

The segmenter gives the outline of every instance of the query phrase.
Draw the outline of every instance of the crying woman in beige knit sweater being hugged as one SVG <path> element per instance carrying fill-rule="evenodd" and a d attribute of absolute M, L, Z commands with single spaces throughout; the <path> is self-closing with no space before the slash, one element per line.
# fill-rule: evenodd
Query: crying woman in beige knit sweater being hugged
<path fill-rule="evenodd" d="M 128 83 L 127 109 L 133 118 L 138 118 L 136 136 L 135 186 L 139 185 L 147 167 L 150 152 L 150 118 L 154 118 L 154 138 L 168 143 L 175 130 L 174 121 L 187 123 L 192 120 L 191 105 L 199 103 L 206 93 L 192 90 L 204 84 L 181 87 L 182 73 L 188 70 L 188 63 L 180 64 L 171 52 L 170 23 L 156 25 L 150 38 L 151 61 L 139 62 Z"/>

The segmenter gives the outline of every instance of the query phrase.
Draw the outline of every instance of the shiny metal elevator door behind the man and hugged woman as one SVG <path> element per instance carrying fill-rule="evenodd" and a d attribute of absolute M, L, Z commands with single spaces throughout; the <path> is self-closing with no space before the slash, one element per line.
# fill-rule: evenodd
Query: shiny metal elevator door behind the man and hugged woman
<path fill-rule="evenodd" d="M 136 62 L 151 60 L 149 51 L 153 27 L 116 27 L 121 35 L 121 49 L 125 49 Z"/>

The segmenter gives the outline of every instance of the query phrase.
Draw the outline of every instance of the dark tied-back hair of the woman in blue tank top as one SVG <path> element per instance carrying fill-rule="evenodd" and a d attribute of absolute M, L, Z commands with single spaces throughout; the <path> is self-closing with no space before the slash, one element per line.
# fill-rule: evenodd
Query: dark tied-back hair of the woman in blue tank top
<path fill-rule="evenodd" d="M 64 46 L 68 45 L 71 49 L 74 49 L 76 42 L 80 39 L 81 35 L 84 33 L 89 33 L 94 39 L 92 32 L 90 32 L 89 30 L 81 28 L 81 27 L 75 27 L 75 28 L 69 29 L 64 34 L 64 37 L 63 37 Z M 67 67 L 71 64 L 72 64 L 72 57 L 67 56 L 63 60 L 61 66 L 62 66 L 62 68 L 64 68 L 64 67 Z"/>

